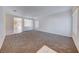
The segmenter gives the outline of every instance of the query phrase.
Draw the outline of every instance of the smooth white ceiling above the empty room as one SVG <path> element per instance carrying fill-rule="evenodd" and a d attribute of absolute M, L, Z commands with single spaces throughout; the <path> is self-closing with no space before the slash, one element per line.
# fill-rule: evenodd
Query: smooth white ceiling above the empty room
<path fill-rule="evenodd" d="M 26 17 L 43 17 L 72 9 L 70 6 L 6 6 L 4 8 L 8 13 Z"/>

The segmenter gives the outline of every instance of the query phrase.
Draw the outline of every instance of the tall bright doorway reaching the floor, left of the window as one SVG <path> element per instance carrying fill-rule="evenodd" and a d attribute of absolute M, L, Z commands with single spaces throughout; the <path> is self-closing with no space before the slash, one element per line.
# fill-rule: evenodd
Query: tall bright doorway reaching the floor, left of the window
<path fill-rule="evenodd" d="M 22 18 L 14 17 L 14 33 L 22 32 Z"/>

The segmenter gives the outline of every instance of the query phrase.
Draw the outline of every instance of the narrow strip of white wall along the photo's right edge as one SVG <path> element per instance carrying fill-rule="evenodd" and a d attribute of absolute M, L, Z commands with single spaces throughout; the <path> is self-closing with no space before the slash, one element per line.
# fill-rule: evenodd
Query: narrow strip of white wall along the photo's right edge
<path fill-rule="evenodd" d="M 73 31 L 72 38 L 79 51 L 79 8 L 73 9 Z"/>

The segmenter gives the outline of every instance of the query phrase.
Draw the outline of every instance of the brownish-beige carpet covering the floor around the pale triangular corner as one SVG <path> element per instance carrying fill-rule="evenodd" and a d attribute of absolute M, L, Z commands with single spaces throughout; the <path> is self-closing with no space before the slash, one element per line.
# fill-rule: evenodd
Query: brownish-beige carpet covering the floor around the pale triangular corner
<path fill-rule="evenodd" d="M 40 31 L 28 31 L 6 36 L 1 52 L 35 53 L 44 45 L 61 53 L 78 52 L 71 37 Z"/>

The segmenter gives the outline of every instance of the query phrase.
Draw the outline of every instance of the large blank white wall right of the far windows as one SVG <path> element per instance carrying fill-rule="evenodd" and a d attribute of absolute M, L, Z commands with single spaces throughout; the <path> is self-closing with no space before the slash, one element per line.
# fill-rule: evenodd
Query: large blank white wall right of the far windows
<path fill-rule="evenodd" d="M 47 17 L 40 18 L 40 31 L 64 36 L 71 36 L 71 12 L 61 12 Z"/>

